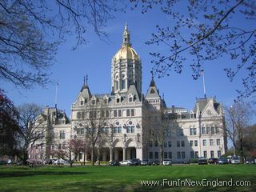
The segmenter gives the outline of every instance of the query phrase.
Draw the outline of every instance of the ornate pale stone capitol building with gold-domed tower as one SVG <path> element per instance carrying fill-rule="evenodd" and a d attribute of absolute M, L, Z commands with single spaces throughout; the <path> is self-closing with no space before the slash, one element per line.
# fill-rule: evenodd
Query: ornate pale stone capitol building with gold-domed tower
<path fill-rule="evenodd" d="M 112 58 L 110 93 L 91 93 L 86 79 L 79 88 L 70 118 L 57 106 L 45 107 L 43 115 L 54 140 L 36 152 L 37 158 L 46 158 L 47 149 L 62 148 L 70 138 L 87 143 L 78 162 L 91 161 L 92 157 L 104 162 L 158 160 L 161 153 L 172 162 L 185 162 L 198 157 L 218 158 L 226 152 L 224 110 L 216 98 L 197 98 L 192 110 L 168 107 L 153 76 L 146 94 L 142 93 L 142 62 L 132 47 L 127 25 L 122 46 Z M 158 111 L 172 117 L 163 143 L 150 132 L 153 125 L 154 130 L 162 129 L 161 122 L 158 125 L 152 117 Z"/>

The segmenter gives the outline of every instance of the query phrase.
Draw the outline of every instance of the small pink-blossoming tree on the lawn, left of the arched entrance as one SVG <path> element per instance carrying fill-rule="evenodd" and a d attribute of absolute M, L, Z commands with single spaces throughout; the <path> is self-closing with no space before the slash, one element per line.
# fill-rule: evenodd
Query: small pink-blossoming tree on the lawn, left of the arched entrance
<path fill-rule="evenodd" d="M 84 150 L 85 142 L 82 139 L 71 138 L 62 148 L 53 150 L 51 154 L 62 158 L 68 162 L 70 166 L 73 166 L 74 161 L 78 158 L 78 154 Z"/>

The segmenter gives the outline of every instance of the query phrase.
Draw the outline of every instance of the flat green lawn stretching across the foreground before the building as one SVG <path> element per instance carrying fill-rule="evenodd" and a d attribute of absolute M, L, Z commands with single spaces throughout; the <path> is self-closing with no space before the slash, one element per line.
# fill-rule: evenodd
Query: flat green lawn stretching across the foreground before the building
<path fill-rule="evenodd" d="M 250 180 L 251 186 L 168 186 L 168 180 Z M 142 180 L 165 186 L 142 186 Z M 160 182 L 160 184 L 161 184 Z M 159 184 L 159 185 L 160 185 Z M 169 182 L 170 184 L 170 182 Z M 225 166 L 0 166 L 0 191 L 256 191 L 255 165 Z"/>

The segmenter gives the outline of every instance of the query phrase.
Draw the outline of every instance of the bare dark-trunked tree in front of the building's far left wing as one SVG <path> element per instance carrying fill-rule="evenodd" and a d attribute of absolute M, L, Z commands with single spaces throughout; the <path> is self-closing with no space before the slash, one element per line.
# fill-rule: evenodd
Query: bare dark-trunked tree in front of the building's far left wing
<path fill-rule="evenodd" d="M 25 103 L 18 106 L 18 135 L 16 154 L 22 159 L 26 165 L 31 150 L 34 147 L 43 147 L 50 139 L 47 134 L 49 127 L 47 126 L 46 116 L 42 114 L 41 107 L 34 103 Z"/>

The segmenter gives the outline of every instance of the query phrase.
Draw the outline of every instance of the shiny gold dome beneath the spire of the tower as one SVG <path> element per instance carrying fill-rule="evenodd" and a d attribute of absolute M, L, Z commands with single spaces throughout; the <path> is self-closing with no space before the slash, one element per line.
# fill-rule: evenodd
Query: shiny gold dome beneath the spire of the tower
<path fill-rule="evenodd" d="M 120 50 L 114 55 L 114 60 L 119 59 L 134 59 L 139 60 L 136 51 L 130 45 L 123 45 Z"/>

